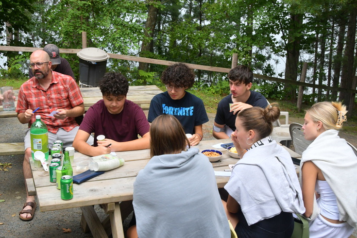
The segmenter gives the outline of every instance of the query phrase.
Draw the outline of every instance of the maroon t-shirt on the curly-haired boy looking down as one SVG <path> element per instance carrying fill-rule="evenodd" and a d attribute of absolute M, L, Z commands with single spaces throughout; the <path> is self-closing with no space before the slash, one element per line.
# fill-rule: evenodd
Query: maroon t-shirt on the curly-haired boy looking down
<path fill-rule="evenodd" d="M 106 139 L 125 142 L 144 136 L 150 130 L 150 125 L 143 110 L 134 102 L 125 100 L 124 108 L 119 114 L 110 114 L 100 100 L 89 107 L 79 127 L 89 134 L 94 132 L 94 146 L 97 146 L 96 136 L 104 135 Z"/>

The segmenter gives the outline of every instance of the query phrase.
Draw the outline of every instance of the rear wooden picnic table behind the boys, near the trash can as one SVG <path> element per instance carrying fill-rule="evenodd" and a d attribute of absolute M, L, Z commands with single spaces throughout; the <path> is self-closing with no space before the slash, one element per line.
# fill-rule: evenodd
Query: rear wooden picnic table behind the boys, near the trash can
<path fill-rule="evenodd" d="M 81 87 L 82 97 L 85 103 L 85 111 L 88 108 L 102 99 L 102 92 L 99 87 Z M 14 90 L 17 98 L 18 90 Z M 156 85 L 146 86 L 129 86 L 127 99 L 138 104 L 143 110 L 149 110 L 150 102 L 153 97 L 159 93 L 162 93 L 160 88 Z M 17 99 L 15 101 L 15 107 L 17 105 Z M 17 113 L 15 111 L 3 111 L 0 106 L 0 118 L 16 118 Z"/>

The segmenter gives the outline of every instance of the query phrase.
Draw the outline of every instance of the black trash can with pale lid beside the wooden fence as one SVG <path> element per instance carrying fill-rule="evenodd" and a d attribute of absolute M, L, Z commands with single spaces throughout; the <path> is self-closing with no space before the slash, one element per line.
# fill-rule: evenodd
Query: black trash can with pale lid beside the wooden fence
<path fill-rule="evenodd" d="M 97 87 L 105 74 L 109 55 L 98 48 L 85 48 L 77 53 L 79 57 L 79 84 L 81 87 Z"/>

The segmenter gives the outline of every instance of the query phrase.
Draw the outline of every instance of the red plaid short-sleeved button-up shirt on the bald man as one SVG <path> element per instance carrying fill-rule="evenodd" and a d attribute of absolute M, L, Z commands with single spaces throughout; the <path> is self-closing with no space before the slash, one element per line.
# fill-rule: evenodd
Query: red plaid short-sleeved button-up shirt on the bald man
<path fill-rule="evenodd" d="M 71 109 L 83 102 L 76 81 L 68 75 L 52 71 L 52 81 L 47 90 L 43 89 L 35 77 L 21 85 L 16 112 L 24 113 L 29 108 L 34 110 L 39 107 L 35 114 L 41 115 L 49 132 L 57 133 L 59 128 L 68 132 L 78 126 L 74 118 L 57 119 L 48 115 L 57 109 Z M 35 117 L 31 118 L 29 127 L 35 120 Z"/>

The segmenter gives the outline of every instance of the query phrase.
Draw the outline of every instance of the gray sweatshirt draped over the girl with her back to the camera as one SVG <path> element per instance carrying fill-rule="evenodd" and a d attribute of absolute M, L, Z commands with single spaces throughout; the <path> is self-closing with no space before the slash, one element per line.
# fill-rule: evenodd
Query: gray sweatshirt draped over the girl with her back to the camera
<path fill-rule="evenodd" d="M 208 158 L 191 148 L 153 156 L 134 183 L 139 238 L 229 238 Z"/>

